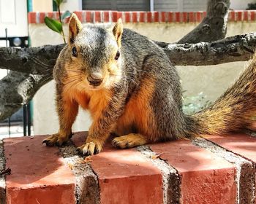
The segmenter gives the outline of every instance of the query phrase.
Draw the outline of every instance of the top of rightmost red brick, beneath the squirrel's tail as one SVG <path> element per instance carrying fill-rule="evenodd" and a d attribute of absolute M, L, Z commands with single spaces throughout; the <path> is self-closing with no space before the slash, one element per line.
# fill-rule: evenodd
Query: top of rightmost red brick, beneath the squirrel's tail
<path fill-rule="evenodd" d="M 219 146 L 230 150 L 235 154 L 239 154 L 252 162 L 256 163 L 256 138 L 246 136 L 244 134 L 228 135 L 228 136 L 204 136 L 209 141 L 213 141 Z"/>

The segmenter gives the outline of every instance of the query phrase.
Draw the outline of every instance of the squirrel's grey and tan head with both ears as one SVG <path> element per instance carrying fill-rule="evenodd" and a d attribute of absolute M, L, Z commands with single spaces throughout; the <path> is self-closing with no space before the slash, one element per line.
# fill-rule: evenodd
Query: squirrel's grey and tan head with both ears
<path fill-rule="evenodd" d="M 114 26 L 83 27 L 73 14 L 69 21 L 68 77 L 78 85 L 98 90 L 113 87 L 121 79 L 121 19 Z M 70 80 L 72 82 L 72 79 Z"/>

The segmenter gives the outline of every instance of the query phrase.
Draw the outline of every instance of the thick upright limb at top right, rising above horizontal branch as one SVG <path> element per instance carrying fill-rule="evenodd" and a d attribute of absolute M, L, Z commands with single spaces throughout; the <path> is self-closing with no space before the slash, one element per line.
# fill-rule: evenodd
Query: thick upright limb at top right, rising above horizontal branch
<path fill-rule="evenodd" d="M 206 17 L 178 43 L 211 42 L 225 38 L 230 0 L 208 0 Z"/>

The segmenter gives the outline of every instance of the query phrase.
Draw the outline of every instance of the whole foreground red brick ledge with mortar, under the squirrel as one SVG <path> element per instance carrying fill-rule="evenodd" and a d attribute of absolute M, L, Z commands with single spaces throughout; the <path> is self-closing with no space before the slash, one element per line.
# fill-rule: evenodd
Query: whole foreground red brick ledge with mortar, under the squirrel
<path fill-rule="evenodd" d="M 46 136 L 4 139 L 1 159 L 12 174 L 6 177 L 6 187 L 0 186 L 0 198 L 15 204 L 256 201 L 256 138 L 206 136 L 208 141 L 179 140 L 124 150 L 106 144 L 103 152 L 85 162 L 75 146 L 86 136 L 76 133 L 60 149 L 42 145 Z"/>

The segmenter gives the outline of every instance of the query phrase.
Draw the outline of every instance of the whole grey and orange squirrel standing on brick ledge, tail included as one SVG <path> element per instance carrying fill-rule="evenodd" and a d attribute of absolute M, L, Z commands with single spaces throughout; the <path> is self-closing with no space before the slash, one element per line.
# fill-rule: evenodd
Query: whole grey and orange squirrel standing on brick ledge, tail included
<path fill-rule="evenodd" d="M 214 104 L 188 116 L 182 111 L 181 85 L 165 52 L 146 36 L 115 26 L 82 28 L 73 14 L 68 44 L 53 70 L 59 133 L 47 146 L 72 136 L 78 106 L 93 119 L 78 150 L 97 154 L 110 133 L 113 146 L 131 148 L 157 141 L 225 134 L 252 127 L 256 110 L 256 60 Z"/>

